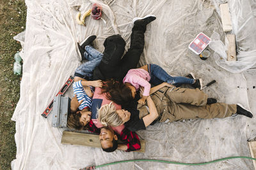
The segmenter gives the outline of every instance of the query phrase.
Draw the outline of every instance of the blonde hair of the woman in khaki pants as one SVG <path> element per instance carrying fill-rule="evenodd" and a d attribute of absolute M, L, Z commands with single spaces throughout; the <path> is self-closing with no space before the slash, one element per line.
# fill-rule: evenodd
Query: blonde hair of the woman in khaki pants
<path fill-rule="evenodd" d="M 97 118 L 104 126 L 111 125 L 113 127 L 116 127 L 124 123 L 122 118 L 120 118 L 119 115 L 116 113 L 115 105 L 112 102 L 101 106 L 100 109 L 98 109 L 97 111 Z"/>

